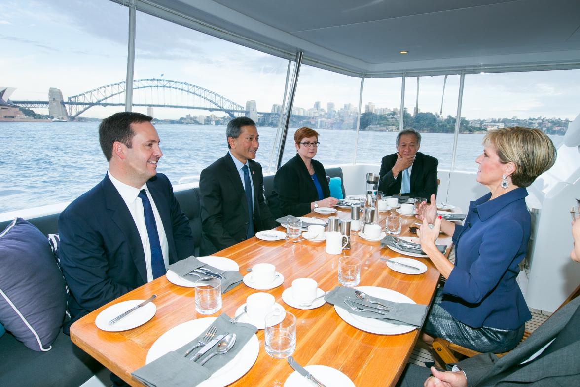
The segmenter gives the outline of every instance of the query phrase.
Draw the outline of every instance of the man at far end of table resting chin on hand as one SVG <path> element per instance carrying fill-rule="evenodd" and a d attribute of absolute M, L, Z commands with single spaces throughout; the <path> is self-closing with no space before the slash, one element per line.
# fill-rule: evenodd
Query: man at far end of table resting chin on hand
<path fill-rule="evenodd" d="M 397 135 L 397 153 L 383 157 L 380 163 L 379 191 L 385 196 L 398 194 L 429 198 L 437 196 L 436 158 L 419 152 L 421 135 L 405 129 Z"/>

